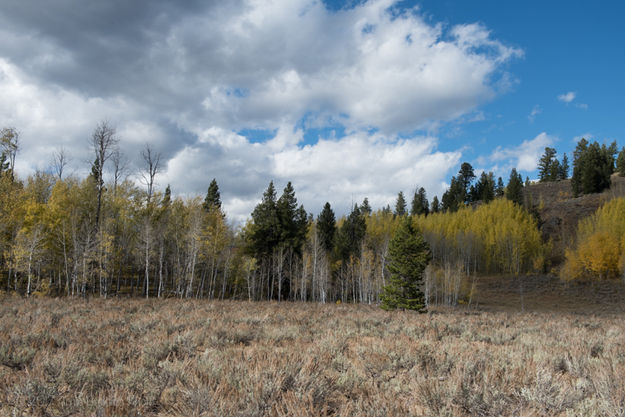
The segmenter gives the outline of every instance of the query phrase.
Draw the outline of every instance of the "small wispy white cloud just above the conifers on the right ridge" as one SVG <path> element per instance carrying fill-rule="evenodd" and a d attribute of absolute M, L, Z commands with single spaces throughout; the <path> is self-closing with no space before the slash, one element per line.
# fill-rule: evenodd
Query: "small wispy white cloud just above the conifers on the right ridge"
<path fill-rule="evenodd" d="M 520 171 L 534 171 L 545 147 L 552 145 L 556 140 L 555 137 L 542 132 L 534 139 L 524 140 L 519 146 L 508 148 L 498 146 L 491 154 L 490 160 L 501 162 L 503 164 L 499 166 L 501 171 L 509 171 L 515 167 Z"/>

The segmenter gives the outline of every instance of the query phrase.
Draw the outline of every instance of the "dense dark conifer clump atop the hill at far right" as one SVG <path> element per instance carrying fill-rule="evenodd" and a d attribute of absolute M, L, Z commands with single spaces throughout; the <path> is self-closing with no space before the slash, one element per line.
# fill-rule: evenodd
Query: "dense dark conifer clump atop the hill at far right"
<path fill-rule="evenodd" d="M 610 187 L 610 175 L 614 172 L 616 143 L 609 147 L 599 146 L 598 142 L 589 143 L 581 139 L 573 153 L 573 176 L 571 187 L 573 195 L 599 193 Z"/>

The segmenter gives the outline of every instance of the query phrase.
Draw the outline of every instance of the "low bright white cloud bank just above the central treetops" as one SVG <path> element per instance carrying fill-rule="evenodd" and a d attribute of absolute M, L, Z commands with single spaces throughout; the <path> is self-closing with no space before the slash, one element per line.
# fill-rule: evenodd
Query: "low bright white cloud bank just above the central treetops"
<path fill-rule="evenodd" d="M 299 134 L 281 129 L 271 141 L 250 143 L 218 129 L 199 132 L 200 143 L 169 161 L 165 181 L 174 191 L 186 191 L 205 187 L 217 176 L 225 209 L 240 222 L 260 201 L 270 180 L 279 191 L 292 181 L 299 201 L 315 214 L 326 201 L 345 213 L 352 200 L 359 203 L 368 197 L 373 207 L 381 208 L 392 204 L 399 191 L 411 195 L 416 186 L 425 187 L 431 196 L 440 195 L 449 169 L 461 156 L 438 152 L 437 140 L 431 137 L 396 140 L 355 133 L 300 147 Z M 276 141 L 285 145 L 277 150 Z"/>

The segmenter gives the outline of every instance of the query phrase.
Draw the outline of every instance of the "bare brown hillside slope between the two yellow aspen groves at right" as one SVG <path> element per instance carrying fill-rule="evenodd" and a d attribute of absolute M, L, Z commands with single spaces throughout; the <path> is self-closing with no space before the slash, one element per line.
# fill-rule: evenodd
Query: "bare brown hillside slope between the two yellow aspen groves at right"
<path fill-rule="evenodd" d="M 612 175 L 612 186 L 602 193 L 574 198 L 571 180 L 531 184 L 524 190 L 526 205 L 538 215 L 543 238 L 553 242 L 551 264 L 564 260 L 564 249 L 575 239 L 577 223 L 605 202 L 625 196 L 625 177 Z"/>

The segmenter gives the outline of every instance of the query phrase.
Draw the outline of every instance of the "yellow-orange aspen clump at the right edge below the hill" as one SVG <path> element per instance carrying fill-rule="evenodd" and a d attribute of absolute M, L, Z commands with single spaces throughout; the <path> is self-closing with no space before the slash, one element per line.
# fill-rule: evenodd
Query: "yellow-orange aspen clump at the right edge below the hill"
<path fill-rule="evenodd" d="M 561 277 L 609 279 L 625 274 L 625 197 L 579 222 L 577 244 L 566 251 Z"/>

